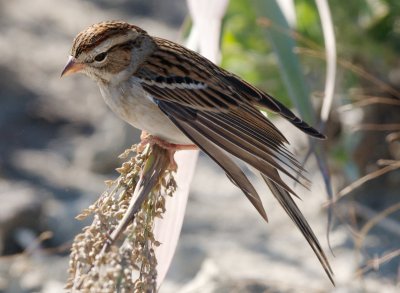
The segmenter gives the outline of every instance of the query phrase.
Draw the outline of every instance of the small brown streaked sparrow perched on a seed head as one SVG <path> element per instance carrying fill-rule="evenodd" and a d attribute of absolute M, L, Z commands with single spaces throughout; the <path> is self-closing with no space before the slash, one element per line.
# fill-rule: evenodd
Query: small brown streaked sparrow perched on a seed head
<path fill-rule="evenodd" d="M 97 83 L 116 115 L 145 133 L 144 141 L 173 151 L 202 150 L 268 221 L 260 196 L 234 158 L 260 172 L 334 284 L 326 254 L 294 201 L 298 195 L 279 173 L 307 187 L 305 170 L 262 111 L 282 116 L 313 138 L 325 139 L 323 134 L 239 76 L 124 21 L 96 23 L 75 37 L 61 76 L 78 72 Z"/>

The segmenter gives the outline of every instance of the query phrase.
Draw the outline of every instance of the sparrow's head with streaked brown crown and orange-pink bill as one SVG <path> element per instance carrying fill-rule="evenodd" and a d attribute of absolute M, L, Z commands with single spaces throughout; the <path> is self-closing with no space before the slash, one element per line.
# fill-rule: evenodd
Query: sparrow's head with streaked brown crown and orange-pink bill
<path fill-rule="evenodd" d="M 61 76 L 81 72 L 97 82 L 119 82 L 129 78 L 154 49 L 152 38 L 137 26 L 97 23 L 75 37 Z"/>

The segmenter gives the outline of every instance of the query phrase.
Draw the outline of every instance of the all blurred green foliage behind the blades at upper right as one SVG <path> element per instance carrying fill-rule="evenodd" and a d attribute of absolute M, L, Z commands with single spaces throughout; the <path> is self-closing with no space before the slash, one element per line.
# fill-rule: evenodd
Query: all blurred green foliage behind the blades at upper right
<path fill-rule="evenodd" d="M 277 55 L 265 38 L 265 26 L 260 25 L 251 0 L 231 0 L 224 21 L 222 36 L 222 65 L 242 76 L 260 89 L 291 105 Z M 297 32 L 301 39 L 297 46 L 324 51 L 323 35 L 314 0 L 296 0 Z M 400 1 L 399 0 L 330 0 L 339 61 L 360 66 L 372 76 L 388 82 L 391 70 L 399 63 Z M 285 33 L 284 29 L 281 33 Z M 309 42 L 304 42 L 308 40 Z M 325 60 L 300 54 L 302 71 L 311 92 L 322 92 L 325 82 Z M 375 89 L 370 81 L 358 73 L 338 65 L 336 103 L 352 101 L 355 91 L 368 94 Z M 370 92 L 373 94 L 373 92 Z M 359 141 L 359 133 L 344 133 L 331 146 L 330 156 L 345 169 Z M 355 174 L 354 172 L 351 177 Z"/>

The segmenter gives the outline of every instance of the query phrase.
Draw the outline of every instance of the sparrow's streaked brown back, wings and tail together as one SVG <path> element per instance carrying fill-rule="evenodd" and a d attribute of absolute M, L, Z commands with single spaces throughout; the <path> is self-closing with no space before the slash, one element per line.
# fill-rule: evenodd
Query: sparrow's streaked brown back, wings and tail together
<path fill-rule="evenodd" d="M 225 170 L 266 219 L 253 186 L 221 149 L 261 172 L 278 202 L 301 230 L 332 278 L 318 240 L 290 193 L 297 195 L 277 171 L 298 182 L 300 177 L 300 183 L 307 185 L 308 181 L 302 175 L 304 170 L 287 149 L 283 134 L 259 108 L 281 114 L 310 135 L 323 136 L 272 97 L 197 53 L 164 40 L 159 46 L 135 73 L 143 88 L 171 121 Z"/>

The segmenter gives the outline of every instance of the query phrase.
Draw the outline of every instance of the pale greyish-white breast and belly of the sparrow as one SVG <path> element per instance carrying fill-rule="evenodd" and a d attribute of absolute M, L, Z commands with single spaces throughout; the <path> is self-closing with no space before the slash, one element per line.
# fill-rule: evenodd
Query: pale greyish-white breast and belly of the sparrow
<path fill-rule="evenodd" d="M 111 110 L 135 128 L 170 143 L 193 144 L 141 88 L 100 86 L 100 91 Z"/>

